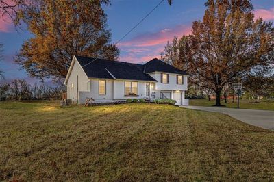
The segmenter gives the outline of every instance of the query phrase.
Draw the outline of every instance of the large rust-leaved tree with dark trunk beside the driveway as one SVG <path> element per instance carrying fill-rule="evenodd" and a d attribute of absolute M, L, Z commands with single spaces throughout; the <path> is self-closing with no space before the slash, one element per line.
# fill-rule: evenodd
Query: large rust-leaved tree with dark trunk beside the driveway
<path fill-rule="evenodd" d="M 195 21 L 186 44 L 184 63 L 190 81 L 214 90 L 221 105 L 221 90 L 257 65 L 273 64 L 274 28 L 259 18 L 253 21 L 249 0 L 209 0 L 203 21 Z"/>

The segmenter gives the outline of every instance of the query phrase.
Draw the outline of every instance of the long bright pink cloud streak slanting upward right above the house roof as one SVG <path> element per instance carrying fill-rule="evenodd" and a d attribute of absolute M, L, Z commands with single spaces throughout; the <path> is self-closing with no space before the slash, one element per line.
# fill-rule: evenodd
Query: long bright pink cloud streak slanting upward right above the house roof
<path fill-rule="evenodd" d="M 174 36 L 183 36 L 191 33 L 190 26 L 177 25 L 172 29 L 162 29 L 153 33 L 141 34 L 118 44 L 118 46 L 136 46 L 136 47 L 149 47 L 158 44 L 166 43 L 168 40 L 172 40 Z"/>

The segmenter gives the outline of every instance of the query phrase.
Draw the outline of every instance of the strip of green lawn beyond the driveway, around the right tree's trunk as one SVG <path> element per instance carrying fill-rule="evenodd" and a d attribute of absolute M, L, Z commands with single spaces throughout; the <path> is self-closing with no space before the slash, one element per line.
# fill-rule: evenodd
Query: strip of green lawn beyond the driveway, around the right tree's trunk
<path fill-rule="evenodd" d="M 189 105 L 196 106 L 212 106 L 215 104 L 215 100 L 208 101 L 208 99 L 190 99 Z M 221 101 L 222 105 L 225 105 L 229 108 L 237 108 L 237 100 L 235 99 L 234 103 L 232 100 L 228 100 L 227 103 Z M 274 110 L 274 101 L 259 101 L 255 103 L 254 101 L 240 100 L 241 109 L 263 109 L 263 110 Z"/>

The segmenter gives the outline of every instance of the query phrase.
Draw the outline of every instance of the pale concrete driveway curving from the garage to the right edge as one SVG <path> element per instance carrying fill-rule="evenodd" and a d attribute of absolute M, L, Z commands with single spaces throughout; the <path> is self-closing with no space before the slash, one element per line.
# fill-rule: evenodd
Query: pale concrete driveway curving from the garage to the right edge
<path fill-rule="evenodd" d="M 220 112 L 228 114 L 237 120 L 250 125 L 270 129 L 274 131 L 274 111 L 255 109 L 232 109 L 223 107 L 182 106 L 187 109 L 196 109 L 207 112 Z"/>

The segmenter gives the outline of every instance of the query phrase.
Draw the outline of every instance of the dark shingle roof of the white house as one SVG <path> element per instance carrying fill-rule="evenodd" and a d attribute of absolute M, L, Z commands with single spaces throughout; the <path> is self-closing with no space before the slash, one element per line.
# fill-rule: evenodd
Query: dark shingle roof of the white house
<path fill-rule="evenodd" d="M 82 57 L 77 55 L 75 55 L 75 57 L 79 64 L 81 64 L 86 75 L 90 78 L 156 81 L 147 73 L 160 71 L 186 75 L 186 72 L 178 70 L 158 59 L 153 59 L 146 64 L 133 64 L 103 59 L 95 60 L 95 58 L 92 57 Z"/>

